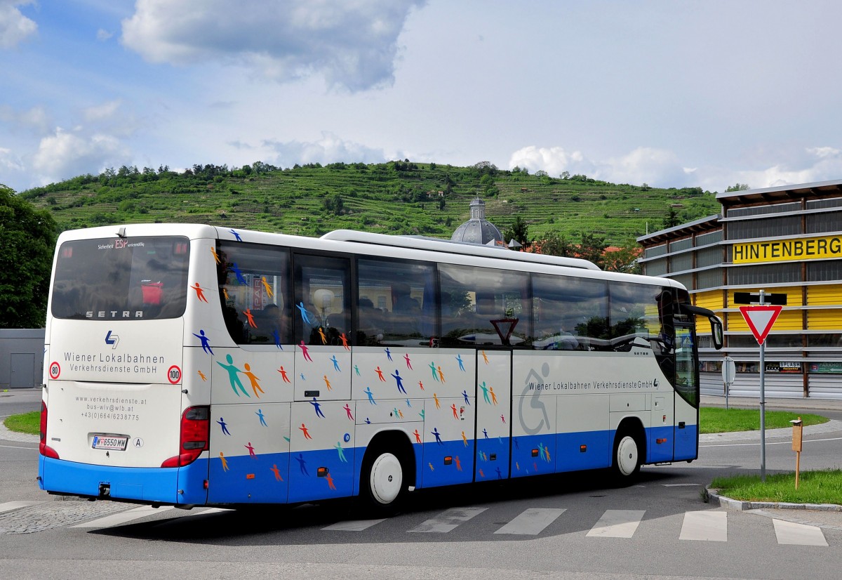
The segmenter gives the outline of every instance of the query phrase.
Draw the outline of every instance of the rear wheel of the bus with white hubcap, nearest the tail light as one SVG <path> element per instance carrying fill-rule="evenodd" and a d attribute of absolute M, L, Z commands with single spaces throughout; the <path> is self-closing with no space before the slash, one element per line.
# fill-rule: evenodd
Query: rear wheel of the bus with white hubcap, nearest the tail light
<path fill-rule="evenodd" d="M 360 472 L 362 499 L 376 513 L 400 511 L 408 493 L 407 470 L 401 454 L 389 448 L 370 449 Z"/>

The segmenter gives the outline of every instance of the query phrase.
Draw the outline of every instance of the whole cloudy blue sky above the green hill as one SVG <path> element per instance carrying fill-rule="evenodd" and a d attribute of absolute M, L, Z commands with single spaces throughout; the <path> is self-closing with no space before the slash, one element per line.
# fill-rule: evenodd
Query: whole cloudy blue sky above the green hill
<path fill-rule="evenodd" d="M 0 0 L 0 183 L 395 158 L 842 179 L 836 0 Z"/>

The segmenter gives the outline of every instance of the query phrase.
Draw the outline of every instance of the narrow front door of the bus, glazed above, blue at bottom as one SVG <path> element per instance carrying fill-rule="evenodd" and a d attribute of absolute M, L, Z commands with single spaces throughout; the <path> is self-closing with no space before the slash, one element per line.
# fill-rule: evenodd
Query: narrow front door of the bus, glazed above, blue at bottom
<path fill-rule="evenodd" d="M 693 361 L 695 335 L 689 325 L 675 326 L 674 459 L 698 457 L 699 373 Z"/>

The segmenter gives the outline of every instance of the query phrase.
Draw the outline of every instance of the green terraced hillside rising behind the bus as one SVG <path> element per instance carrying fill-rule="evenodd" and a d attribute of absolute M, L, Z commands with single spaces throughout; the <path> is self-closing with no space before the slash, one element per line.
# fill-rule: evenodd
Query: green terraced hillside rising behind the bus
<path fill-rule="evenodd" d="M 260 162 L 239 169 L 194 165 L 178 173 L 121 167 L 100 175 L 20 194 L 50 209 L 62 229 L 109 223 L 210 223 L 316 236 L 337 228 L 449 238 L 481 197 L 486 216 L 504 230 L 520 216 L 531 238 L 583 233 L 609 244 L 718 212 L 701 188 L 616 185 L 584 175 L 500 170 L 491 164 L 454 167 L 387 164 L 310 164 L 291 169 Z"/>

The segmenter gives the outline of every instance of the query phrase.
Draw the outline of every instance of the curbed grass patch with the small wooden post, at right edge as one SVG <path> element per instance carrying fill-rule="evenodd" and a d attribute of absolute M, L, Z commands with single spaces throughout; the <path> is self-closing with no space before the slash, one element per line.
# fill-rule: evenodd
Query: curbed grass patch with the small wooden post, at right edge
<path fill-rule="evenodd" d="M 842 470 L 804 471 L 795 489 L 795 473 L 717 477 L 711 487 L 723 496 L 743 502 L 792 502 L 842 504 Z"/>

